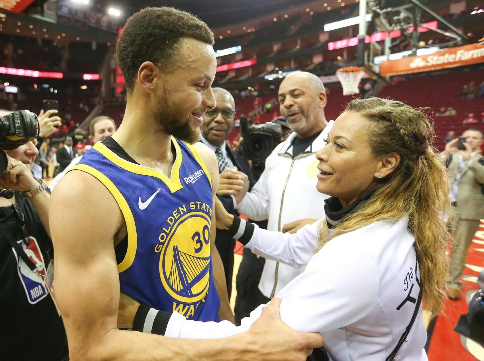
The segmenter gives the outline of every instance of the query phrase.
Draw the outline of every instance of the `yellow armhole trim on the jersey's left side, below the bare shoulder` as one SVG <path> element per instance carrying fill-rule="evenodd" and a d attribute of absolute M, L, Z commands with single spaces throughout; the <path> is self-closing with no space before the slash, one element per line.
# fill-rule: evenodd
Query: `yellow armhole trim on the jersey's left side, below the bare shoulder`
<path fill-rule="evenodd" d="M 121 209 L 121 212 L 123 213 L 123 217 L 126 222 L 126 229 L 128 232 L 128 249 L 126 251 L 123 261 L 121 261 L 117 265 L 117 272 L 121 273 L 127 270 L 135 260 L 136 248 L 138 245 L 138 236 L 136 234 L 135 219 L 133 217 L 133 213 L 131 213 L 130 207 L 126 202 L 125 197 L 123 197 L 123 195 L 114 185 L 114 183 L 111 182 L 109 178 L 107 178 L 104 174 L 99 172 L 97 169 L 91 166 L 88 166 L 86 164 L 78 164 L 74 166 L 71 170 L 83 171 L 97 178 L 102 184 L 104 184 L 104 186 L 109 190 L 109 192 L 111 192 L 117 204 L 119 205 L 119 208 Z"/>

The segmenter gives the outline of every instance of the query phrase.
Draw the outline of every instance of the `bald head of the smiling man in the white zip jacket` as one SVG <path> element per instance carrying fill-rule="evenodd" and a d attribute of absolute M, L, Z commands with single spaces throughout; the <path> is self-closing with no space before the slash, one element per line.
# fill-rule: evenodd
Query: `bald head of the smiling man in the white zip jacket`
<path fill-rule="evenodd" d="M 302 139 L 326 126 L 324 107 L 326 92 L 316 75 L 297 71 L 289 74 L 279 86 L 281 115 Z"/>

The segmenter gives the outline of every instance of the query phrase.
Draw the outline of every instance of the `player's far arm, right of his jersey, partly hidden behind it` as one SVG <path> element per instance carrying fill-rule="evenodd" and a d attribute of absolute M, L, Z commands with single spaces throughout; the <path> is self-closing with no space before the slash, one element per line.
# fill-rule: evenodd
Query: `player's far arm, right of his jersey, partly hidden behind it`
<path fill-rule="evenodd" d="M 200 156 L 202 157 L 205 165 L 210 173 L 212 179 L 212 229 L 210 230 L 210 255 L 212 256 L 213 264 L 213 279 L 215 281 L 215 287 L 220 298 L 220 310 L 219 317 L 222 320 L 229 320 L 234 322 L 234 316 L 230 308 L 230 301 L 228 299 L 227 282 L 225 280 L 225 272 L 223 269 L 222 259 L 218 254 L 217 247 L 215 246 L 215 234 L 217 233 L 216 220 L 215 220 L 215 198 L 218 188 L 218 164 L 217 159 L 213 151 L 208 149 L 202 143 L 196 143 Z"/>

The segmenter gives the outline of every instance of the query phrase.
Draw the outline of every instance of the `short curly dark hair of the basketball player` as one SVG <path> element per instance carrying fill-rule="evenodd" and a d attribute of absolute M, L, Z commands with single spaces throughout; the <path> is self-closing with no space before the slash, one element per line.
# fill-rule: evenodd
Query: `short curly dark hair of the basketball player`
<path fill-rule="evenodd" d="M 193 38 L 213 45 L 210 28 L 202 20 L 169 7 L 145 8 L 126 22 L 116 48 L 117 64 L 131 93 L 141 64 L 160 66 L 166 73 L 175 69 L 178 45 L 182 38 Z"/>

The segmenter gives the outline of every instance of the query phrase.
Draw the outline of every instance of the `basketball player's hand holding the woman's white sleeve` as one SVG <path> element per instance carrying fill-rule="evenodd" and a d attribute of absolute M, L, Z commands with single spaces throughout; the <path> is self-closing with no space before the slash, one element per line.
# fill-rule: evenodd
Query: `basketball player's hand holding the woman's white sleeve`
<path fill-rule="evenodd" d="M 279 315 L 281 301 L 273 298 L 248 331 L 255 347 L 258 347 L 260 357 L 257 359 L 304 361 L 313 348 L 323 345 L 323 338 L 319 333 L 297 332 L 287 326 Z"/>

